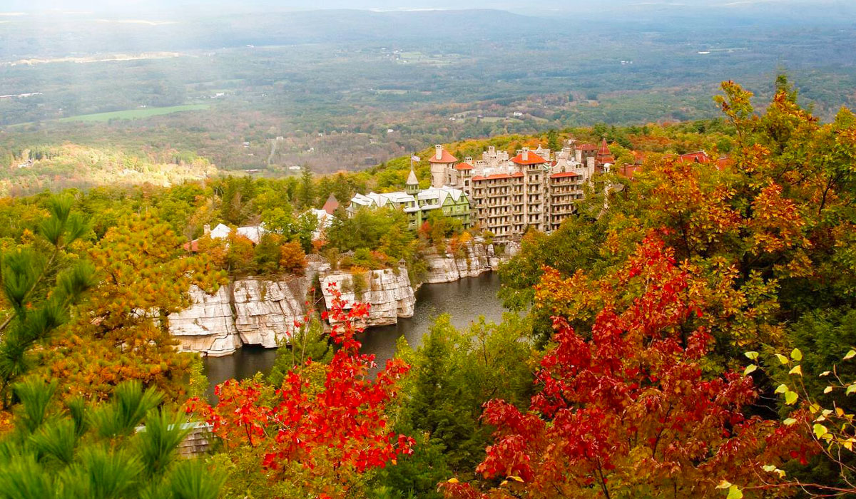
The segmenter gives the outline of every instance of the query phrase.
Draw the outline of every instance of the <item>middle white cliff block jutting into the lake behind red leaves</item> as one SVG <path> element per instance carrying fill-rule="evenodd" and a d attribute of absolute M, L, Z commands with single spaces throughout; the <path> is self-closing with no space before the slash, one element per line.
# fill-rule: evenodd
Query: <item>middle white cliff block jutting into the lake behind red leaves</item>
<path fill-rule="evenodd" d="M 355 282 L 355 280 L 362 282 Z M 330 272 L 319 276 L 326 306 L 333 303 L 330 284 L 342 292 L 346 306 L 355 301 L 370 304 L 363 327 L 395 324 L 400 317 L 413 317 L 416 296 L 407 269 L 371 270 L 354 276 L 348 272 Z"/>

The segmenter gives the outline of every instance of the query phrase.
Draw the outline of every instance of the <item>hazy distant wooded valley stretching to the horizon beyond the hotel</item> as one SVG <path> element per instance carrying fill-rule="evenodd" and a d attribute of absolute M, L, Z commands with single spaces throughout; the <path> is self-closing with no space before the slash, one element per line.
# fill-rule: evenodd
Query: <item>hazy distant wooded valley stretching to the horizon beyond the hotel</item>
<path fill-rule="evenodd" d="M 153 25 L 12 17 L 0 23 L 0 178 L 27 176 L 15 171 L 25 151 L 68 144 L 164 153 L 157 164 L 196 155 L 267 176 L 304 164 L 356 170 L 456 140 L 714 118 L 710 95 L 726 74 L 770 100 L 770 80 L 787 71 L 829 121 L 856 105 L 852 19 L 668 9 L 204 12 Z"/>

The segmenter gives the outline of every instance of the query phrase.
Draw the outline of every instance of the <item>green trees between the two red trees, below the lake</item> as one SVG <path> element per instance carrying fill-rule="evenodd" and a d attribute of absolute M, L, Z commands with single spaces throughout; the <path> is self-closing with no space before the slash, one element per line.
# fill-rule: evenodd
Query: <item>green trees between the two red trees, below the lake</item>
<path fill-rule="evenodd" d="M 471 469 L 484 457 L 490 430 L 479 423 L 482 404 L 491 398 L 520 406 L 528 401 L 534 354 L 529 328 L 526 319 L 509 314 L 502 324 L 480 318 L 457 330 L 441 315 L 421 347 L 405 350 L 412 373 L 399 425 L 425 445 L 389 467 L 386 484 L 430 495 L 436 490 L 431 479 Z"/>

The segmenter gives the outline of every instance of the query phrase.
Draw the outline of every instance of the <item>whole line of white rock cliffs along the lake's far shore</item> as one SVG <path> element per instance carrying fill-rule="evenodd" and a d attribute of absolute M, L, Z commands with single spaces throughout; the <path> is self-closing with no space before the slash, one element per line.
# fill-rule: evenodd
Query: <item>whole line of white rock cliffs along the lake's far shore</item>
<path fill-rule="evenodd" d="M 502 252 L 497 252 L 493 244 L 474 240 L 462 247 L 457 256 L 427 253 L 424 282 L 453 282 L 479 276 L 498 269 L 500 263 L 518 250 L 516 243 L 509 242 Z M 306 276 L 288 276 L 278 281 L 241 278 L 219 288 L 215 294 L 205 294 L 193 287 L 190 289 L 193 306 L 169 315 L 169 332 L 182 351 L 212 357 L 230 355 L 242 345 L 276 348 L 280 338 L 290 336 L 295 321 L 303 318 L 304 297 L 315 276 L 321 283 L 326 306 L 330 306 L 333 298 L 328 291 L 330 284 L 342 290 L 342 299 L 347 302 L 371 304 L 369 317 L 361 324 L 364 327 L 395 324 L 398 318 L 413 317 L 415 289 L 406 269 L 369 270 L 355 276 L 331 270 L 326 263 L 312 262 Z"/>

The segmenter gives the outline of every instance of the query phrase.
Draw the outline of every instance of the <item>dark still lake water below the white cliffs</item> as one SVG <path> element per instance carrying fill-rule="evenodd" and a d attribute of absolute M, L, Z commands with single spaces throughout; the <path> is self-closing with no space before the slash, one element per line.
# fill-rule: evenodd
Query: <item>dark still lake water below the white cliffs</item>
<path fill-rule="evenodd" d="M 384 365 L 395 355 L 395 342 L 404 336 L 413 348 L 422 343 L 422 336 L 431 328 L 434 318 L 442 313 L 452 316 L 456 327 L 467 327 L 484 315 L 488 321 L 502 319 L 502 304 L 496 298 L 499 276 L 488 272 L 478 277 L 467 277 L 456 282 L 425 284 L 416 292 L 413 318 L 400 318 L 398 324 L 369 328 L 359 339 L 363 353 L 374 353 L 377 365 Z M 276 359 L 276 348 L 243 347 L 227 357 L 206 357 L 205 374 L 211 387 L 234 377 L 244 379 L 257 372 L 270 371 Z M 211 398 L 213 389 L 208 390 Z"/>

